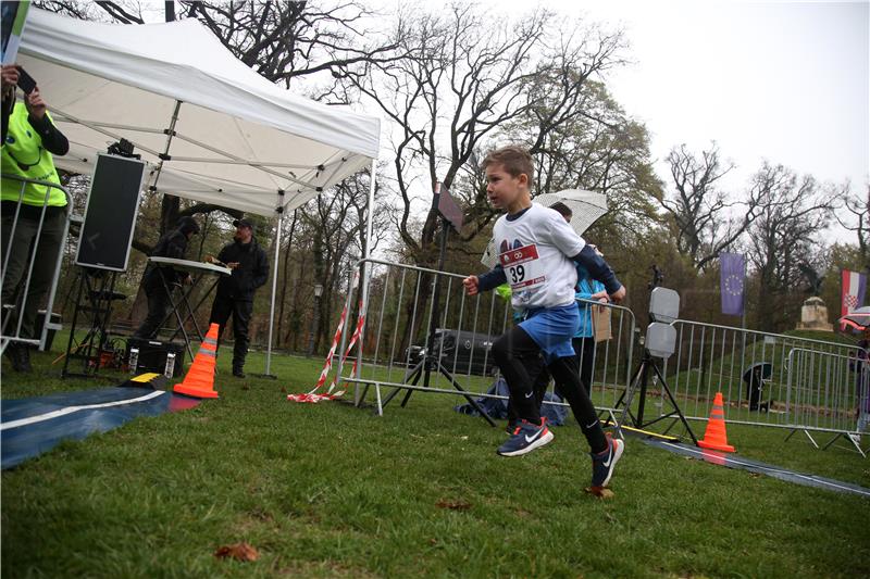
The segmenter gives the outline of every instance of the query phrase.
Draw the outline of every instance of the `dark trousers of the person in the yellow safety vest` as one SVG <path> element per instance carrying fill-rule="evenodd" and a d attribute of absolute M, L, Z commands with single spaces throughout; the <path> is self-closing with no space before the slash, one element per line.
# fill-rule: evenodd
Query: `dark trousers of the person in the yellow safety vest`
<path fill-rule="evenodd" d="M 24 210 L 25 207 L 22 206 Z M 21 320 L 21 337 L 36 338 L 36 315 L 42 305 L 42 300 L 51 287 L 51 278 L 58 265 L 58 253 L 63 247 L 63 228 L 66 222 L 66 210 L 49 207 L 42 222 L 42 231 L 39 239 L 36 237 L 39 228 L 39 218 L 18 215 L 15 230 L 12 230 L 15 213 L 3 211 L 2 215 L 2 252 L 0 263 L 9 264 L 3 272 L 3 305 L 13 304 L 15 310 L 9 319 L 3 319 L 7 335 L 15 335 L 18 320 Z M 30 267 L 30 255 L 36 247 L 34 268 L 27 295 L 24 295 L 24 286 L 27 282 L 27 272 Z M 20 310 L 21 301 L 24 306 Z M 21 317 L 18 317 L 21 315 Z M 5 317 L 5 316 L 4 316 Z"/>

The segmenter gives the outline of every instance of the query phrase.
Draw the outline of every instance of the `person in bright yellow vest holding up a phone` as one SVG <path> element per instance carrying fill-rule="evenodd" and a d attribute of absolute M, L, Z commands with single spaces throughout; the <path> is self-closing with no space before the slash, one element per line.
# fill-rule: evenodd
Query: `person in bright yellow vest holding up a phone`
<path fill-rule="evenodd" d="M 49 289 L 58 252 L 63 247 L 66 221 L 66 196 L 55 187 L 47 187 L 5 178 L 17 176 L 60 185 L 52 155 L 70 150 L 66 137 L 58 130 L 36 81 L 17 65 L 3 65 L 2 77 L 2 181 L 0 181 L 0 219 L 2 221 L 3 305 L 13 305 L 10 319 L 4 319 L 5 333 L 14 333 L 21 319 L 21 337 L 35 338 L 36 315 Z M 16 87 L 24 91 L 16 99 Z M 42 215 L 45 209 L 45 215 Z M 17 219 L 16 217 L 17 213 Z M 39 223 L 42 229 L 37 239 Z M 33 253 L 33 248 L 35 254 Z M 33 273 L 27 295 L 26 285 L 30 256 Z M 20 311 L 22 299 L 24 307 Z M 5 312 L 5 309 L 4 309 Z M 10 328 L 12 328 L 10 330 Z M 26 345 L 11 342 L 7 356 L 15 372 L 29 372 L 30 357 Z"/>

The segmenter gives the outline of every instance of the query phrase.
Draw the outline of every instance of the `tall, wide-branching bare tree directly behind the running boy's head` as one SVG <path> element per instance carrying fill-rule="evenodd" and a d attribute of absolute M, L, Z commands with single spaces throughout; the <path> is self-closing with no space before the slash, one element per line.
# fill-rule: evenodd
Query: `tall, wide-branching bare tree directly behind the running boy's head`
<path fill-rule="evenodd" d="M 403 58 L 343 72 L 349 87 L 373 100 L 398 127 L 393 143 L 401 198 L 398 228 L 418 263 L 433 262 L 438 219 L 431 210 L 419 235 L 413 230 L 415 196 L 427 194 L 437 181 L 451 187 L 500 127 L 537 113 L 534 150 L 542 135 L 582 113 L 577 103 L 587 79 L 619 62 L 619 34 L 562 29 L 568 26 L 560 27 L 546 10 L 512 22 L 494 21 L 474 4 L 453 3 L 437 14 L 415 7 L 413 14 L 399 16 L 393 34 Z M 547 95 L 535 90 L 543 75 L 559 79 L 550 83 Z M 540 106 L 545 98 L 547 108 Z M 419 175 L 424 175 L 420 182 Z M 493 213 L 480 210 L 485 197 L 478 191 L 465 198 L 471 201 L 463 230 L 468 240 Z"/>

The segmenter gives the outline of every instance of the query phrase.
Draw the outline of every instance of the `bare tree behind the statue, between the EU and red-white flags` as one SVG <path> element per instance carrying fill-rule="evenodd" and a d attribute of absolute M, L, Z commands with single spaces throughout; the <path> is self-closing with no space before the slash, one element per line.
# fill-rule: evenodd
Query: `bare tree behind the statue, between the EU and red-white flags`
<path fill-rule="evenodd" d="M 818 235 L 828 227 L 833 197 L 810 175 L 799 177 L 783 165 L 765 163 L 753 176 L 758 216 L 748 228 L 749 259 L 758 269 L 758 326 L 783 329 L 799 302 L 790 295 L 803 268 L 817 263 Z"/>

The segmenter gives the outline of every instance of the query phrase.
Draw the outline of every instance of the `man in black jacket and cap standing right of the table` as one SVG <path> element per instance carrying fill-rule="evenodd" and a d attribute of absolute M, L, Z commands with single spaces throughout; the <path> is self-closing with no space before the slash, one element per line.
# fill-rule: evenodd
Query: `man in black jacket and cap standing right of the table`
<path fill-rule="evenodd" d="M 253 312 L 253 292 L 269 279 L 265 251 L 253 237 L 253 226 L 246 219 L 233 222 L 236 232 L 233 243 L 224 246 L 217 261 L 233 270 L 217 284 L 217 295 L 211 306 L 210 324 L 219 324 L 220 337 L 233 315 L 233 376 L 245 377 L 245 356 L 248 354 L 248 323 Z"/>

